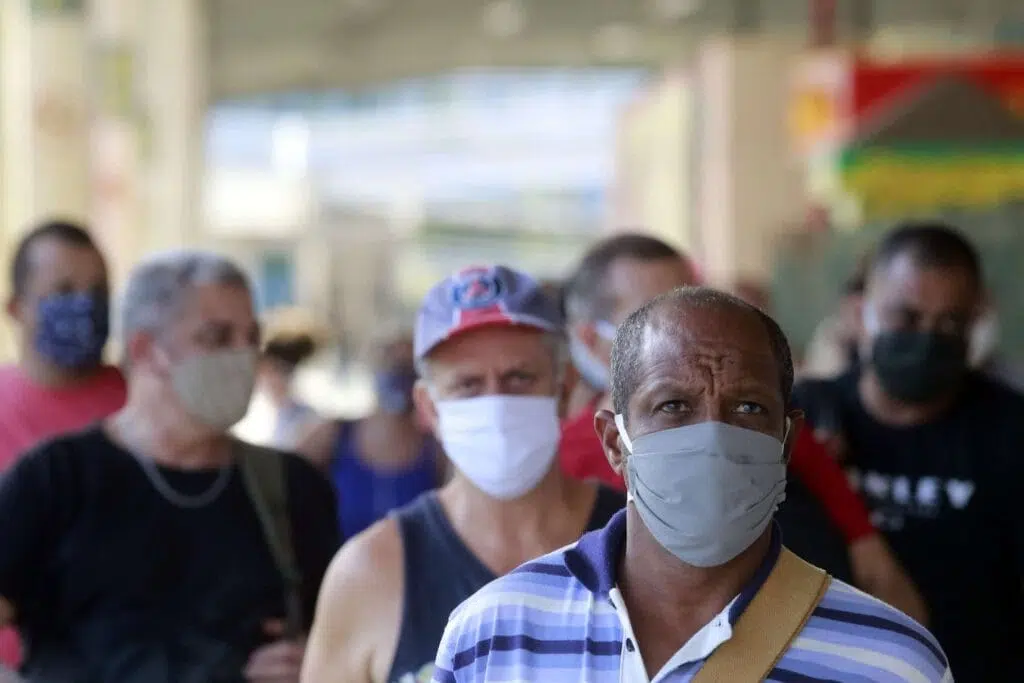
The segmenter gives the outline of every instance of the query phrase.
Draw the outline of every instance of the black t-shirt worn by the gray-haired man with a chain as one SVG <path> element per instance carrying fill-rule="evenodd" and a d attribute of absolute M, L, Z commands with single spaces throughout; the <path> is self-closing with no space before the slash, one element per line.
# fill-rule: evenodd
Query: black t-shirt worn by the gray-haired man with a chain
<path fill-rule="evenodd" d="M 286 457 L 311 618 L 340 543 L 334 494 Z M 159 471 L 185 496 L 220 474 Z M 0 596 L 17 611 L 30 680 L 242 681 L 250 653 L 272 640 L 263 623 L 284 616 L 284 595 L 237 468 L 209 505 L 176 507 L 96 427 L 39 446 L 0 479 Z"/>

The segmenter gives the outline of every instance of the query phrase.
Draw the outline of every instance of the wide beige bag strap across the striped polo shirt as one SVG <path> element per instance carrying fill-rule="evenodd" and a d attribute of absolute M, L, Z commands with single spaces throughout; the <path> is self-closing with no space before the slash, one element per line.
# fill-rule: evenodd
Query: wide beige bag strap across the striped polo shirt
<path fill-rule="evenodd" d="M 830 579 L 785 548 L 764 586 L 693 683 L 760 683 L 807 624 Z"/>

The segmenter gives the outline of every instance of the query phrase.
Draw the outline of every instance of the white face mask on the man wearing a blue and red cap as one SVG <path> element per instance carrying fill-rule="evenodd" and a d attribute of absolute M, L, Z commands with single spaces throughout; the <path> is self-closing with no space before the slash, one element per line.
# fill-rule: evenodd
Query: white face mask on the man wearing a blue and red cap
<path fill-rule="evenodd" d="M 445 455 L 487 496 L 519 498 L 551 469 L 561 432 L 553 396 L 488 395 L 436 407 Z"/>

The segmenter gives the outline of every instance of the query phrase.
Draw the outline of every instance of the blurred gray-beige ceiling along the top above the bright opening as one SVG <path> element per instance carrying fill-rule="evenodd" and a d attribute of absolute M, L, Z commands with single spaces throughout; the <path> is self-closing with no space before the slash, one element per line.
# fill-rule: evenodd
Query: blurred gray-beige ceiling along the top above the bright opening
<path fill-rule="evenodd" d="M 709 34 L 806 35 L 813 0 L 207 0 L 216 99 L 357 88 L 460 67 L 678 63 Z M 980 39 L 1020 0 L 836 0 L 841 36 Z"/>

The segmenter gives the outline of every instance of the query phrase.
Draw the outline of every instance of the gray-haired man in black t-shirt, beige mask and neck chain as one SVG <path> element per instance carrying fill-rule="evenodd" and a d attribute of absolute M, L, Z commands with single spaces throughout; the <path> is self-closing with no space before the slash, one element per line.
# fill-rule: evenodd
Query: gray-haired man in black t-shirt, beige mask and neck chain
<path fill-rule="evenodd" d="M 240 456 L 251 451 L 227 435 L 256 373 L 246 275 L 206 252 L 153 258 L 129 281 L 121 328 L 124 410 L 43 444 L 0 482 L 0 626 L 30 644 L 23 673 L 295 681 L 303 645 L 285 633 L 266 508 Z M 301 459 L 270 455 L 311 615 L 339 543 L 333 494 Z"/>

